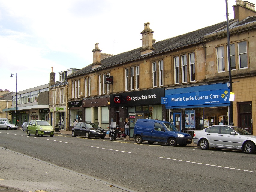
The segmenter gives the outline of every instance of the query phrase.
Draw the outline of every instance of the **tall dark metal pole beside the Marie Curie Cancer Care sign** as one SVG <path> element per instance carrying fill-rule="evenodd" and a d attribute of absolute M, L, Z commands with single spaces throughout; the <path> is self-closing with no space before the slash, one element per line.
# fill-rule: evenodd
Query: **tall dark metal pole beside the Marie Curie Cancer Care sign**
<path fill-rule="evenodd" d="M 232 92 L 230 39 L 229 39 L 229 22 L 228 22 L 229 19 L 228 19 L 227 0 L 226 0 L 226 17 L 227 17 L 227 56 L 228 56 L 228 70 L 229 70 L 229 88 L 230 88 L 230 92 Z M 233 123 L 233 102 L 232 101 L 230 101 L 230 106 L 229 106 L 229 110 L 228 111 L 229 111 L 228 123 L 229 123 L 229 125 L 234 125 L 234 123 Z"/>

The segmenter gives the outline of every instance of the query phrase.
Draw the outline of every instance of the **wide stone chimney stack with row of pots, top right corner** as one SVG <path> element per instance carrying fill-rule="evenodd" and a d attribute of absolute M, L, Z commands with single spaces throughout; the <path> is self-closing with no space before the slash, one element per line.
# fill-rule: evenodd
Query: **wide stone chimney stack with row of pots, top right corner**
<path fill-rule="evenodd" d="M 234 9 L 234 19 L 238 19 L 238 21 L 242 21 L 247 17 L 255 16 L 255 4 L 248 1 L 236 0 L 236 4 L 233 5 Z"/>

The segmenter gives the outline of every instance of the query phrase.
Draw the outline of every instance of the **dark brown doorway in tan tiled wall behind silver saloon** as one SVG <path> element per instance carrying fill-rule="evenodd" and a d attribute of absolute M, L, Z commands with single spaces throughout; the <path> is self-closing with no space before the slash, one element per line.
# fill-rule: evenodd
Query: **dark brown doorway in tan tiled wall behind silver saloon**
<path fill-rule="evenodd" d="M 252 105 L 251 102 L 239 102 L 238 107 L 238 126 L 244 128 L 252 134 Z"/>

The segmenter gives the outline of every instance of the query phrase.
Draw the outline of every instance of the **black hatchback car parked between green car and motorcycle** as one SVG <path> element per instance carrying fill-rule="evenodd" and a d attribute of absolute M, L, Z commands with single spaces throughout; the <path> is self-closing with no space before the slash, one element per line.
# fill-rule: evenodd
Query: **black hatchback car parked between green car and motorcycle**
<path fill-rule="evenodd" d="M 95 123 L 80 122 L 77 123 L 72 129 L 72 137 L 76 137 L 77 135 L 85 136 L 88 139 L 90 137 L 100 137 L 101 139 L 104 139 L 106 136 L 106 131 Z"/>

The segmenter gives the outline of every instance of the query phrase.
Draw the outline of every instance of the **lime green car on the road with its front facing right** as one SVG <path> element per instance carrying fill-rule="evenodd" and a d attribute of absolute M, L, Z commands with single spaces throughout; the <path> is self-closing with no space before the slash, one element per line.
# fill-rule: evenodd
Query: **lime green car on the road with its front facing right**
<path fill-rule="evenodd" d="M 47 121 L 32 120 L 29 122 L 27 134 L 34 134 L 37 137 L 39 137 L 40 135 L 50 135 L 51 137 L 53 137 L 54 130 L 53 127 Z"/>

